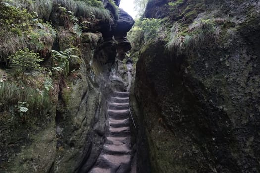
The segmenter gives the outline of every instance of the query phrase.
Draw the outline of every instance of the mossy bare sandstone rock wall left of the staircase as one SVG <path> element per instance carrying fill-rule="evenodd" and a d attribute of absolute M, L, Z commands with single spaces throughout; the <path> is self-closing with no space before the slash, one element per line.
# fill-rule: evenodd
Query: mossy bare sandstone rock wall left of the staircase
<path fill-rule="evenodd" d="M 111 2 L 104 4 L 110 10 Z M 116 13 L 111 11 L 109 21 L 95 19 L 77 37 L 64 23 L 60 9 L 53 7 L 49 19 L 58 36 L 52 48 L 74 47 L 79 58 L 70 59 L 68 76 L 53 80 L 53 104 L 45 117 L 36 115 L 21 123 L 8 112 L 0 115 L 1 173 L 80 173 L 95 163 L 104 142 L 108 95 L 126 89 L 122 80 L 109 78 L 117 52 L 125 49 L 112 36 L 121 25 L 126 33 L 134 21 L 126 13 L 119 14 L 121 22 L 127 18 L 121 24 Z M 90 20 L 78 17 L 82 22 Z"/>

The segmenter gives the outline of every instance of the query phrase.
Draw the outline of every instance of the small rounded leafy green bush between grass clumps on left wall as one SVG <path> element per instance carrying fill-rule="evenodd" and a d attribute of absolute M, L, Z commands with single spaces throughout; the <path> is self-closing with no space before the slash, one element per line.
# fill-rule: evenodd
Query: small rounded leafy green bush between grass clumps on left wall
<path fill-rule="evenodd" d="M 26 70 L 43 70 L 39 64 L 43 59 L 39 57 L 38 53 L 29 51 L 28 48 L 18 50 L 14 55 L 9 56 L 8 59 L 10 60 L 10 66 L 15 67 L 22 74 Z"/>

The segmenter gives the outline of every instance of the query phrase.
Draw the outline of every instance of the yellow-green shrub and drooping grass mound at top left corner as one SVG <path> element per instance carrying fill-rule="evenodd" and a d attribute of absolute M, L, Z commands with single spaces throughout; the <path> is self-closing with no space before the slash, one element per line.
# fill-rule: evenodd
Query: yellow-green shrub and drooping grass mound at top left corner
<path fill-rule="evenodd" d="M 26 9 L 0 3 L 0 63 L 8 64 L 8 56 L 28 47 L 34 52 L 52 48 L 56 32 L 51 25 L 36 19 Z"/>

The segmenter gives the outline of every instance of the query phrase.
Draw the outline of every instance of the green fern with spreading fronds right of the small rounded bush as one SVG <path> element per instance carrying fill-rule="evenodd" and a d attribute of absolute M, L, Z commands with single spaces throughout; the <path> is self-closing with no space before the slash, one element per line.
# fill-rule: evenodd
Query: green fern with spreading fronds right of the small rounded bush
<path fill-rule="evenodd" d="M 68 48 L 64 52 L 63 51 L 58 52 L 56 50 L 51 51 L 52 57 L 54 58 L 54 60 L 57 61 L 58 67 L 59 67 L 59 68 L 56 68 L 55 70 L 58 70 L 61 68 L 66 76 L 69 74 L 69 59 L 71 57 L 79 58 L 78 56 L 71 55 L 73 50 L 74 50 L 74 48 Z"/>

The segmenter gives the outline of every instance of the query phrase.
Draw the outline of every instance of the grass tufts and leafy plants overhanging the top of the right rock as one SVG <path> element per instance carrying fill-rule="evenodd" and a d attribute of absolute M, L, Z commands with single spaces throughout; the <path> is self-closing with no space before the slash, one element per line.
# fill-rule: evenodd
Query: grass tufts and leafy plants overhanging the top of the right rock
<path fill-rule="evenodd" d="M 150 3 L 156 1 L 151 0 Z M 215 22 L 217 19 L 197 18 L 199 13 L 205 11 L 205 0 L 172 0 L 161 8 L 168 10 L 165 11 L 166 18 L 140 18 L 128 33 L 128 39 L 134 45 L 133 47 L 138 46 L 140 52 L 157 41 L 163 41 L 167 43 L 166 48 L 171 53 L 189 54 L 203 44 L 215 43 L 219 38 L 220 27 Z"/>

